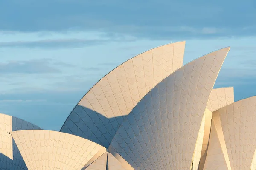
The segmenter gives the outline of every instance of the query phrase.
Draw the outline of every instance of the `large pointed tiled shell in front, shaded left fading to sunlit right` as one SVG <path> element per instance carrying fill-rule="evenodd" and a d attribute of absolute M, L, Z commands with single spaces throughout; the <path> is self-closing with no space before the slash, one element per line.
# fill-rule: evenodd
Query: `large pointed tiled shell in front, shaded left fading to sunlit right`
<path fill-rule="evenodd" d="M 200 57 L 163 79 L 134 107 L 110 147 L 136 170 L 188 170 L 209 95 L 229 49 Z"/>

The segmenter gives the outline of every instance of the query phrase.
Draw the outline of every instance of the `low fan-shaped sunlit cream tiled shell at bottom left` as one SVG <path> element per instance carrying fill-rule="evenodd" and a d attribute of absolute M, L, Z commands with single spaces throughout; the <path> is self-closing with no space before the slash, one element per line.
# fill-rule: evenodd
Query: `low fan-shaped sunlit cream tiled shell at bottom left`
<path fill-rule="evenodd" d="M 81 170 L 102 149 L 95 142 L 50 130 L 11 132 L 29 170 Z"/>

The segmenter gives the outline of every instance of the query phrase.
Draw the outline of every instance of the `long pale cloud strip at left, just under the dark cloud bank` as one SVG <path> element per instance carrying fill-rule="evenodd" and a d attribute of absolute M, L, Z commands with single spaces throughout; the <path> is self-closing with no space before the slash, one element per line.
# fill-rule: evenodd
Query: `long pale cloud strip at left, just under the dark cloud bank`
<path fill-rule="evenodd" d="M 15 32 L 4 34 L 0 32 L 0 48 L 26 47 L 26 48 L 79 48 L 101 45 L 110 42 L 130 42 L 135 37 L 118 33 L 104 33 L 91 31 L 67 31 L 56 33 L 52 31 L 39 31 L 34 33 Z"/>

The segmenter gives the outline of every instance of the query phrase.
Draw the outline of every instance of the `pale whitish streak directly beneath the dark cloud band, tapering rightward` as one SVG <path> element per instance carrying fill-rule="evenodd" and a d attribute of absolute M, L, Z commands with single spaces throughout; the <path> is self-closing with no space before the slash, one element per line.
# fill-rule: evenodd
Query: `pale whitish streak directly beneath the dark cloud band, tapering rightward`
<path fill-rule="evenodd" d="M 125 34 L 107 34 L 99 31 L 64 31 L 64 32 L 51 32 L 51 31 L 40 31 L 40 32 L 15 32 L 11 31 L 0 31 L 0 47 L 4 46 L 26 46 L 38 44 L 51 43 L 50 45 L 55 46 L 52 43 L 89 43 L 99 41 L 134 41 L 135 37 Z M 7 33 L 7 34 L 6 34 Z"/>

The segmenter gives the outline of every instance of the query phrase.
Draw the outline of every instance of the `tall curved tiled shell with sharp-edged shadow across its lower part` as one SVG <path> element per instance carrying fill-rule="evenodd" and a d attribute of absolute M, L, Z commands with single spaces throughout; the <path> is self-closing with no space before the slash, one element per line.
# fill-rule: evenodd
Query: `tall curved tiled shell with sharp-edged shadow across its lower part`
<path fill-rule="evenodd" d="M 183 63 L 185 42 L 163 45 L 119 65 L 76 105 L 61 132 L 108 147 L 124 118 L 145 94 Z"/>

